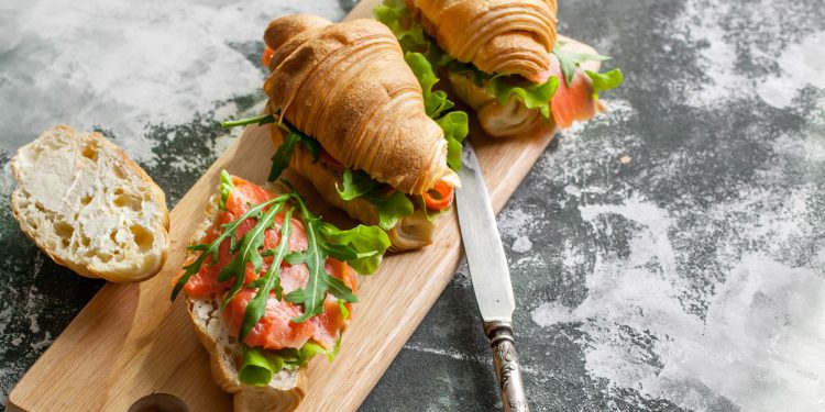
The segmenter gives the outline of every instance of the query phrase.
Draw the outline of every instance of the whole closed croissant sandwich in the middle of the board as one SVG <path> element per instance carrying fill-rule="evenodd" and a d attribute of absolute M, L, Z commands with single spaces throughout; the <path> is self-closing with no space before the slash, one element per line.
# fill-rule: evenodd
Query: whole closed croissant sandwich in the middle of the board
<path fill-rule="evenodd" d="M 432 90 L 428 59 L 405 56 L 373 20 L 284 16 L 264 42 L 270 114 L 251 121 L 275 123 L 271 180 L 290 167 L 329 203 L 384 229 L 393 249 L 430 244 L 460 183 L 468 118 Z"/>

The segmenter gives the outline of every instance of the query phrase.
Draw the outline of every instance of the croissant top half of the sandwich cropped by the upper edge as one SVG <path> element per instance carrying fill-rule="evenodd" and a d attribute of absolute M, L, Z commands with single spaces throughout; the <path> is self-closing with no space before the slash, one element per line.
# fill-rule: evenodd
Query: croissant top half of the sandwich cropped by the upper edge
<path fill-rule="evenodd" d="M 543 82 L 556 44 L 556 0 L 406 0 L 453 58 L 487 74 Z"/>

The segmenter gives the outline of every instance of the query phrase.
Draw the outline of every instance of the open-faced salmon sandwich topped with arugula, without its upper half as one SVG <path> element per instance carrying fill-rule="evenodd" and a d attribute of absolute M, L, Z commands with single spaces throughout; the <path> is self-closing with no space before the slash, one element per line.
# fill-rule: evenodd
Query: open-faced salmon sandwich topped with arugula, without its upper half
<path fill-rule="evenodd" d="M 238 412 L 297 408 L 309 360 L 339 350 L 355 270 L 374 272 L 389 246 L 378 227 L 341 231 L 278 192 L 221 172 L 172 292 L 186 296 L 212 378 Z"/>

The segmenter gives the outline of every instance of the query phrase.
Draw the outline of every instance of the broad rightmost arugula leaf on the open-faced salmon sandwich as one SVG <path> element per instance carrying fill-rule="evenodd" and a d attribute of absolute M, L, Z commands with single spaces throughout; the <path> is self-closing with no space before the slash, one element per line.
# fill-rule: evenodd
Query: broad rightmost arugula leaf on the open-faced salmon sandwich
<path fill-rule="evenodd" d="M 324 264 L 330 246 L 319 233 L 319 227 L 323 222 L 309 213 L 300 198 L 295 199 L 301 209 L 301 220 L 307 232 L 307 249 L 288 254 L 286 261 L 292 265 L 307 265 L 309 279 L 306 287 L 287 293 L 285 299 L 304 305 L 304 314 L 292 320 L 295 323 L 301 323 L 323 312 L 323 299 L 327 292 L 348 302 L 358 302 L 358 298 L 341 279 L 327 274 Z"/>

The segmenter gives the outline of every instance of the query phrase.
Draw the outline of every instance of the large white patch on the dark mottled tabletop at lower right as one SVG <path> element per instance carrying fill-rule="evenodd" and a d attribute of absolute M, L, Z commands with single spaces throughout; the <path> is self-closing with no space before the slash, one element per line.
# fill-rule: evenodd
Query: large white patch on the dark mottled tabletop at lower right
<path fill-rule="evenodd" d="M 604 164 L 576 162 L 570 168 L 568 159 L 605 156 L 627 143 L 622 136 L 602 146 L 571 140 L 561 151 L 579 152 L 560 151 L 552 159 L 548 176 L 570 170 L 563 192 L 602 246 L 585 278 L 586 298 L 571 308 L 543 302 L 532 321 L 542 327 L 575 324 L 585 333 L 578 342 L 587 374 L 610 388 L 698 411 L 718 402 L 749 411 L 825 408 L 825 371 L 812 367 L 825 365 L 825 246 L 820 242 L 820 257 L 805 266 L 791 263 L 799 245 L 821 235 L 809 224 L 821 188 L 788 187 L 784 169 L 789 162 L 823 162 L 823 142 L 780 136 L 781 162 L 756 170 L 760 185 L 743 183 L 724 202 L 703 207 L 682 197 L 673 208 L 632 190 L 603 191 L 619 201 L 583 202 L 581 181 Z M 658 178 L 672 179 L 667 172 Z M 558 176 L 552 181 L 558 185 Z M 626 254 L 608 241 L 619 227 L 627 232 Z M 690 252 L 712 233 L 721 236 L 711 242 L 719 280 L 696 285 L 701 274 L 692 272 Z M 571 243 L 562 259 L 565 268 L 590 261 Z M 690 308 L 692 301 L 704 309 Z"/>

